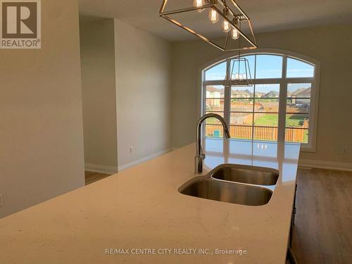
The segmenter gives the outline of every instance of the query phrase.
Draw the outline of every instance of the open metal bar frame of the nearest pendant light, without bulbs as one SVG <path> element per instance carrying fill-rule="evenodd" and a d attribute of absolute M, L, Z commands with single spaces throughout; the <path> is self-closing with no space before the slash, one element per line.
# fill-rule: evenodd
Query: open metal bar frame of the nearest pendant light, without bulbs
<path fill-rule="evenodd" d="M 233 10 L 234 8 L 231 8 L 230 6 L 228 6 L 226 4 L 226 0 L 205 0 L 206 4 L 204 4 L 203 6 L 181 8 L 181 9 L 172 10 L 172 11 L 165 11 L 165 8 L 168 4 L 168 0 L 163 0 L 163 4 L 161 4 L 159 15 L 162 18 L 165 18 L 166 20 L 177 25 L 178 27 L 181 27 L 182 29 L 187 30 L 191 34 L 194 34 L 196 37 L 203 39 L 203 41 L 208 42 L 208 44 L 211 44 L 222 51 L 244 51 L 244 50 L 248 50 L 248 49 L 258 49 L 256 37 L 254 35 L 253 26 L 252 26 L 252 23 L 251 23 L 249 16 L 246 15 L 246 13 L 244 13 L 242 8 L 234 0 L 227 0 L 227 1 L 230 1 L 232 3 L 232 6 L 234 6 L 237 9 L 237 11 L 239 11 L 239 13 L 235 13 Z M 220 8 L 218 8 L 218 6 L 216 6 L 216 4 L 220 4 L 223 7 L 223 9 L 220 10 Z M 224 20 L 227 20 L 227 22 L 230 23 L 230 26 L 234 27 L 235 29 L 237 29 L 239 31 L 239 34 L 241 35 L 241 37 L 243 37 L 249 45 L 243 46 L 243 47 L 239 46 L 239 48 L 237 48 L 237 49 L 229 48 L 228 44 L 229 44 L 229 41 L 231 41 L 231 36 L 230 36 L 231 32 L 227 32 L 225 44 L 223 44 L 223 45 L 216 44 L 215 42 L 212 42 L 210 39 L 203 36 L 202 34 L 195 32 L 191 28 L 189 28 L 185 25 L 182 25 L 182 23 L 180 23 L 177 20 L 174 20 L 170 17 L 170 15 L 174 15 L 174 14 L 178 14 L 178 13 L 186 13 L 186 12 L 191 12 L 191 11 L 197 11 L 197 10 L 201 10 L 201 9 L 213 9 L 216 12 L 218 12 L 218 14 Z M 226 15 L 227 11 L 234 17 L 233 20 L 227 17 L 227 15 Z M 248 23 L 249 24 L 252 39 L 249 36 L 247 36 L 243 31 L 241 31 L 238 25 L 235 25 L 234 20 L 236 18 L 239 20 L 239 23 Z"/>

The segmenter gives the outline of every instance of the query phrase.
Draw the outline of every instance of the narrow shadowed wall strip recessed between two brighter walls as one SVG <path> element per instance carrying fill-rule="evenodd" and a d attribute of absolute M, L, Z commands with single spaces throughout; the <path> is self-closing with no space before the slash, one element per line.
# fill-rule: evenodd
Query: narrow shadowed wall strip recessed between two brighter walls
<path fill-rule="evenodd" d="M 114 20 L 82 18 L 82 21 L 80 48 L 84 163 L 90 170 L 116 172 L 118 146 Z"/>

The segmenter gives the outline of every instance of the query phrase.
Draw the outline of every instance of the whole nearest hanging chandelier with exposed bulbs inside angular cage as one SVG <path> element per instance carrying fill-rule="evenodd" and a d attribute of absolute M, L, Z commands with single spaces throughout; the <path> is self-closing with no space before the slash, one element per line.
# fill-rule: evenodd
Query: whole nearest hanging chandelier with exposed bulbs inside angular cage
<path fill-rule="evenodd" d="M 222 51 L 258 48 L 251 20 L 234 0 L 163 0 L 159 15 Z"/>

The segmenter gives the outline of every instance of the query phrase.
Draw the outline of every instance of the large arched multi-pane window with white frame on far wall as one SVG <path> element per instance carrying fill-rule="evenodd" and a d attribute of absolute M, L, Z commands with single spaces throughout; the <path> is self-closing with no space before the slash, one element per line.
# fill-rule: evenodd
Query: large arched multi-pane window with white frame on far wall
<path fill-rule="evenodd" d="M 202 70 L 201 112 L 222 115 L 234 139 L 300 142 L 315 151 L 320 63 L 287 51 L 242 57 L 249 60 L 253 86 L 223 86 L 235 56 L 213 63 Z M 208 119 L 204 133 L 222 137 L 222 127 Z"/>

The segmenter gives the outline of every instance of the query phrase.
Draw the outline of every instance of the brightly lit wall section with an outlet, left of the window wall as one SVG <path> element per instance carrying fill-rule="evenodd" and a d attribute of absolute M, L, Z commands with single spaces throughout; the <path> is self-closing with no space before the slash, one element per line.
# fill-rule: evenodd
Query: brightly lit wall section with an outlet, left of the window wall
<path fill-rule="evenodd" d="M 170 149 L 170 44 L 115 20 L 115 58 L 121 167 Z"/>

